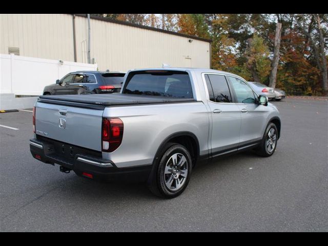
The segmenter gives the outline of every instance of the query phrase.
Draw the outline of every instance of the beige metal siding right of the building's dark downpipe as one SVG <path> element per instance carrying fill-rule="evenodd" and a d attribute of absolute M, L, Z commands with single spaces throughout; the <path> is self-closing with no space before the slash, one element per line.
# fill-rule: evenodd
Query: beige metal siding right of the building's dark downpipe
<path fill-rule="evenodd" d="M 88 40 L 87 18 L 76 16 L 77 61 L 82 57 L 81 42 Z M 209 43 L 115 23 L 91 19 L 91 59 L 95 58 L 99 70 L 128 71 L 135 68 L 172 67 L 210 68 Z M 87 51 L 87 50 L 86 50 Z M 85 56 L 87 55 L 85 51 Z"/>

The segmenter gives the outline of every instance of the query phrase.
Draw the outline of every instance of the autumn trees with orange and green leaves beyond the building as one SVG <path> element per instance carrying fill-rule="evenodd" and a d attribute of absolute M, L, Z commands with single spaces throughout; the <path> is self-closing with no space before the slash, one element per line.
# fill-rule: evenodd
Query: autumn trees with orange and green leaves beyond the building
<path fill-rule="evenodd" d="M 281 23 L 276 87 L 303 95 L 328 93 L 328 14 L 97 15 L 211 39 L 213 69 L 266 85 Z"/>

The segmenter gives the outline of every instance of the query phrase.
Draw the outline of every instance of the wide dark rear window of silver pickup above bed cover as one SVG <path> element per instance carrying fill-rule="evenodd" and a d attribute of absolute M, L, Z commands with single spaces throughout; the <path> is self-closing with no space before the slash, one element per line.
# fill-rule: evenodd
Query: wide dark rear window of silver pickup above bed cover
<path fill-rule="evenodd" d="M 142 71 L 130 73 L 123 93 L 152 96 L 192 98 L 192 88 L 187 72 Z"/>

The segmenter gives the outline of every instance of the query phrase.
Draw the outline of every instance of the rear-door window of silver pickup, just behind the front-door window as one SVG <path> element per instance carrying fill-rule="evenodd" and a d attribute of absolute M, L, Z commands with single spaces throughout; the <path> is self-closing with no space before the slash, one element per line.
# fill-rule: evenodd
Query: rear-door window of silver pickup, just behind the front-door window
<path fill-rule="evenodd" d="M 205 80 L 211 101 L 216 103 L 232 102 L 226 77 L 219 74 L 206 74 Z"/>

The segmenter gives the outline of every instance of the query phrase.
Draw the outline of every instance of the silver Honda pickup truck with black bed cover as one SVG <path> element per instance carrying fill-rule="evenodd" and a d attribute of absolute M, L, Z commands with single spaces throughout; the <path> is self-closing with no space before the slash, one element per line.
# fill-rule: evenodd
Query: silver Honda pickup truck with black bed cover
<path fill-rule="evenodd" d="M 227 72 L 131 70 L 120 93 L 39 96 L 30 150 L 62 172 L 146 181 L 173 198 L 196 163 L 247 149 L 274 153 L 281 123 L 267 99 Z"/>

